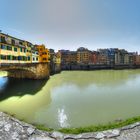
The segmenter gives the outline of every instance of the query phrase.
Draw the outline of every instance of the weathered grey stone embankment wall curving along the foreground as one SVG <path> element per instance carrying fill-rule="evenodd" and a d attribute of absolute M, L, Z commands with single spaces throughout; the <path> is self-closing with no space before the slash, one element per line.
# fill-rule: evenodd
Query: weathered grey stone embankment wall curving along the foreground
<path fill-rule="evenodd" d="M 0 140 L 140 140 L 140 122 L 113 130 L 73 135 L 41 131 L 0 112 Z"/>

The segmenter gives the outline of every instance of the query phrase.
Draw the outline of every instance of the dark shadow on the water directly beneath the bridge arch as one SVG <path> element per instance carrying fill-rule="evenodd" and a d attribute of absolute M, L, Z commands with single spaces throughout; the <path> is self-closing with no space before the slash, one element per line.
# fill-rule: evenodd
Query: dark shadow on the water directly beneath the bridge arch
<path fill-rule="evenodd" d="M 46 82 L 46 80 L 22 80 L 0 77 L 0 101 L 13 96 L 35 95 Z"/>

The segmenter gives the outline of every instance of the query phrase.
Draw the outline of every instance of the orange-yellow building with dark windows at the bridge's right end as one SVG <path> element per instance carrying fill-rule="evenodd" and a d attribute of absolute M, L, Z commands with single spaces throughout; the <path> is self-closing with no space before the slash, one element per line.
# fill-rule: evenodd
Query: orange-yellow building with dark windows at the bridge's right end
<path fill-rule="evenodd" d="M 45 48 L 45 45 L 35 45 L 39 53 L 39 62 L 50 62 L 49 49 Z"/>

